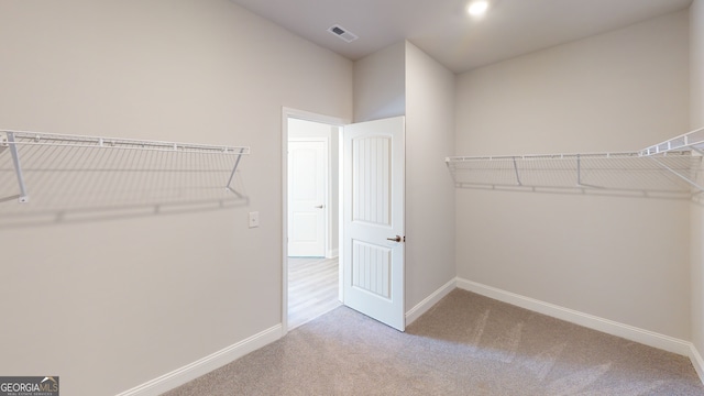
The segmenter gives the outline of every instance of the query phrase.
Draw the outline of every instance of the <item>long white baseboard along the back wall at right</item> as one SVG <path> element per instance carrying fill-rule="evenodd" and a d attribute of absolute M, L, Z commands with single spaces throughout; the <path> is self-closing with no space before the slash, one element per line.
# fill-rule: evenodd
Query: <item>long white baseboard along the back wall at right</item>
<path fill-rule="evenodd" d="M 553 318 L 562 319 L 612 336 L 622 337 L 627 340 L 636 341 L 683 356 L 691 355 L 692 343 L 689 341 L 660 334 L 650 330 L 639 329 L 634 326 L 619 323 L 617 321 L 560 307 L 550 302 L 520 296 L 492 286 L 482 285 L 476 282 L 462 278 L 458 278 L 457 282 L 459 288 L 470 290 L 482 296 L 494 298 L 499 301 L 515 305 L 517 307 L 526 308 L 536 312 L 551 316 Z"/>

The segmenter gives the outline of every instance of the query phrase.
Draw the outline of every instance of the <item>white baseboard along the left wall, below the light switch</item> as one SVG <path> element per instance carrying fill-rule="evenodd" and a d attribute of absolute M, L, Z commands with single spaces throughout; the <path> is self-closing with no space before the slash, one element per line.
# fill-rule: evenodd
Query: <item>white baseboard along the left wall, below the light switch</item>
<path fill-rule="evenodd" d="M 158 396 L 174 389 L 189 381 L 205 375 L 216 369 L 233 362 L 245 354 L 253 352 L 282 338 L 282 326 L 276 324 L 271 329 L 254 334 L 223 350 L 212 353 L 196 362 L 187 364 L 158 378 L 125 391 L 117 396 Z"/>

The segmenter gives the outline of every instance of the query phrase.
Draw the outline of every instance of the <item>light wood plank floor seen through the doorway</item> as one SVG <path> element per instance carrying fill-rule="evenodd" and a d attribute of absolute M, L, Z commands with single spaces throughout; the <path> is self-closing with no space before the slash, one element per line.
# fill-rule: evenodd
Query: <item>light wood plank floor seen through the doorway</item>
<path fill-rule="evenodd" d="M 288 257 L 288 330 L 341 305 L 338 257 Z"/>

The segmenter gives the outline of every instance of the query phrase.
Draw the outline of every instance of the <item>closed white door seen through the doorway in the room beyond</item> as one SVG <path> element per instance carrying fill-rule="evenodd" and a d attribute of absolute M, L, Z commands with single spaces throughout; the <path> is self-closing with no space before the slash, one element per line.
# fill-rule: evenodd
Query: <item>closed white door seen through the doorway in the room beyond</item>
<path fill-rule="evenodd" d="M 288 255 L 324 257 L 328 146 L 288 142 Z"/>

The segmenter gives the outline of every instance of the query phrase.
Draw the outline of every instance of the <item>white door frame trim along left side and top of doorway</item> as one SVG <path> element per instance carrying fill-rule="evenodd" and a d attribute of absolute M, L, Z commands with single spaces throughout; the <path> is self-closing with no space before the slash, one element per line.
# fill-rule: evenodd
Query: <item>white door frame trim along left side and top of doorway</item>
<path fill-rule="evenodd" d="M 310 111 L 282 107 L 282 337 L 288 333 L 288 119 L 326 123 L 332 127 L 344 127 L 351 123 L 337 117 L 323 116 Z M 331 150 L 334 150 L 332 147 Z M 340 186 L 341 187 L 341 186 Z M 341 196 L 340 196 L 341 197 Z M 341 212 L 341 211 L 340 211 Z M 341 213 L 340 213 L 341 216 Z M 339 246 L 341 250 L 342 246 Z M 340 252 L 341 254 L 342 252 Z"/>

